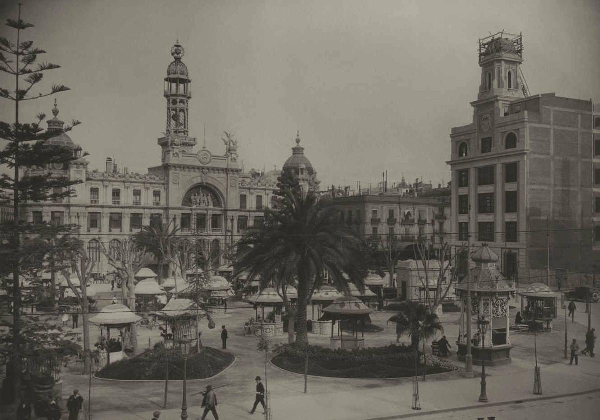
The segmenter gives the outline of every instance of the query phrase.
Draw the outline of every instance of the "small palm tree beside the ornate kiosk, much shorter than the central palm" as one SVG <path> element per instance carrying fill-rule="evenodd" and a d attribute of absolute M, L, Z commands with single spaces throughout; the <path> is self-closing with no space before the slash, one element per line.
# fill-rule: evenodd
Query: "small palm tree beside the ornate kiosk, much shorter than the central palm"
<path fill-rule="evenodd" d="M 431 313 L 427 305 L 414 301 L 406 301 L 400 305 L 398 313 L 392 316 L 388 322 L 396 323 L 398 341 L 400 341 L 400 337 L 405 334 L 408 335 L 412 341 L 412 347 L 415 351 L 415 378 L 418 376 L 419 341 L 423 342 L 423 357 L 425 358 L 423 379 L 425 379 L 425 370 L 427 367 L 425 341 L 434 337 L 438 331 L 444 331 L 439 316 Z"/>

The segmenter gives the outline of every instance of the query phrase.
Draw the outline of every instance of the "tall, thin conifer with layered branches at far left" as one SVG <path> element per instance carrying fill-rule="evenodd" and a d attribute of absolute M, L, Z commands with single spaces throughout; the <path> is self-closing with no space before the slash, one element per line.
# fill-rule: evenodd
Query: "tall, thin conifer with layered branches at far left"
<path fill-rule="evenodd" d="M 7 38 L 0 37 L 0 71 L 14 77 L 14 88 L 0 88 L 0 97 L 14 103 L 14 122 L 0 122 L 0 138 L 8 142 L 0 152 L 0 166 L 5 165 L 13 169 L 13 176 L 2 175 L 0 178 L 0 200 L 10 203 L 14 208 L 14 221 L 2 224 L 2 231 L 10 235 L 8 245 L 2 245 L 0 258 L 3 261 L 2 271 L 10 271 L 13 275 L 13 284 L 10 287 L 10 296 L 13 299 L 13 319 L 10 333 L 13 337 L 13 365 L 14 365 L 14 395 L 19 395 L 21 387 L 21 358 L 23 357 L 23 334 L 21 311 L 21 290 L 19 275 L 21 272 L 20 259 L 22 236 L 34 232 L 31 223 L 22 221 L 21 203 L 26 201 L 44 202 L 58 199 L 71 194 L 70 186 L 77 182 L 68 178 L 56 176 L 49 169 L 50 164 L 68 164 L 77 158 L 71 149 L 61 146 L 46 145 L 44 140 L 56 136 L 57 132 L 43 132 L 41 122 L 46 118 L 43 114 L 37 115 L 37 121 L 23 124 L 19 118 L 22 102 L 44 98 L 58 92 L 68 91 L 63 85 L 53 85 L 47 92 L 37 92 L 38 84 L 43 80 L 44 72 L 59 68 L 56 64 L 37 62 L 39 55 L 46 53 L 34 47 L 34 42 L 22 39 L 22 32 L 34 25 L 21 19 L 7 19 L 7 26 L 16 31 L 16 43 Z M 68 131 L 74 125 L 61 128 Z M 33 173 L 28 173 L 33 170 Z M 25 176 L 23 176 L 25 175 Z"/>

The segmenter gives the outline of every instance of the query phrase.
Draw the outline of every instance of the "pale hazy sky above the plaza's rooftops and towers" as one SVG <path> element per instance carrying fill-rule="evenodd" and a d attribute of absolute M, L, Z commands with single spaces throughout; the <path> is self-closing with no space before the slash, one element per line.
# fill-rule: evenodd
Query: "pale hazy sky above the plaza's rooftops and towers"
<path fill-rule="evenodd" d="M 600 103 L 598 0 L 21 0 L 47 51 L 43 88 L 62 83 L 59 118 L 90 167 L 115 157 L 146 172 L 160 164 L 163 79 L 179 38 L 190 70 L 190 135 L 224 154 L 235 134 L 244 169 L 281 169 L 301 145 L 327 185 L 424 178 L 448 182 L 449 134 L 472 122 L 478 39 L 523 33 L 532 94 Z M 16 19 L 17 1 L 0 0 Z M 14 40 L 14 31 L 0 27 Z M 13 80 L 0 75 L 0 86 Z M 52 115 L 55 97 L 23 104 L 25 121 Z M 0 119 L 13 121 L 0 100 Z M 205 127 L 205 129 L 204 129 Z"/>

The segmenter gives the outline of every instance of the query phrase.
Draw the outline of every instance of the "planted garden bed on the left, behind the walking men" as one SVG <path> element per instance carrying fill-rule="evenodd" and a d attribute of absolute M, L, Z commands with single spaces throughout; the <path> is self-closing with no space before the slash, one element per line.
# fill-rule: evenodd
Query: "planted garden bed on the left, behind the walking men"
<path fill-rule="evenodd" d="M 188 356 L 187 379 L 206 379 L 221 373 L 229 367 L 235 356 L 212 347 L 204 347 L 200 353 Z M 164 349 L 159 346 L 132 359 L 112 363 L 96 374 L 102 379 L 116 380 L 182 380 L 184 357 L 178 349 Z"/>

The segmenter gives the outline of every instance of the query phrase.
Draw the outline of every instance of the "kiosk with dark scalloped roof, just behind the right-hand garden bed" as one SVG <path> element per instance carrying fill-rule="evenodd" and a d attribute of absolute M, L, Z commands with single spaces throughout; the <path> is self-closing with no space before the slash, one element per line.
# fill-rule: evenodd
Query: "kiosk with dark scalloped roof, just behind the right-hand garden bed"
<path fill-rule="evenodd" d="M 373 310 L 367 307 L 361 299 L 352 296 L 338 298 L 324 308 L 321 320 L 323 322 L 331 321 L 331 348 L 334 350 L 363 349 L 365 347 L 365 323 L 371 323 L 369 316 L 371 313 Z M 338 322 L 337 335 L 334 334 L 336 321 Z M 352 335 L 344 335 L 340 328 L 341 321 L 349 321 L 352 324 Z M 362 332 L 360 337 L 359 332 Z"/>

